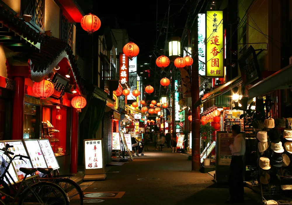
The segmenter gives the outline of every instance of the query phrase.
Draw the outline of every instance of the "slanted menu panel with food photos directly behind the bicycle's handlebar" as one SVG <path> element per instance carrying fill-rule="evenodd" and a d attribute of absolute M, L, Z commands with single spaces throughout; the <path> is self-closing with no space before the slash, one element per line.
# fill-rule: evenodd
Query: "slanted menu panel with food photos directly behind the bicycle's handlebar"
<path fill-rule="evenodd" d="M 9 144 L 9 145 L 13 145 L 13 147 L 9 148 L 9 151 L 13 152 L 14 155 L 23 155 L 23 156 L 28 157 L 22 141 L 4 141 L 4 143 Z M 13 155 L 10 155 L 10 156 L 13 157 Z M 30 163 L 29 159 L 23 158 L 23 160 L 15 159 L 12 162 L 14 170 L 16 171 L 18 180 L 22 180 L 25 176 L 25 174 L 22 171 L 19 171 L 20 167 L 32 168 L 32 164 Z M 32 176 L 34 176 L 34 174 L 27 175 L 27 178 L 32 177 Z"/>

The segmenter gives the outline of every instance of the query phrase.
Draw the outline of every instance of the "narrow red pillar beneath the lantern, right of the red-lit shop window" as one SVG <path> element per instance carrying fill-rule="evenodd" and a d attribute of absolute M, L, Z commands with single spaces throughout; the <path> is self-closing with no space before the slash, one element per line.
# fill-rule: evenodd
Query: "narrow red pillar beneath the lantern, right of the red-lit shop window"
<path fill-rule="evenodd" d="M 77 173 L 78 157 L 78 113 L 72 109 L 72 132 L 71 132 L 71 173 Z"/>

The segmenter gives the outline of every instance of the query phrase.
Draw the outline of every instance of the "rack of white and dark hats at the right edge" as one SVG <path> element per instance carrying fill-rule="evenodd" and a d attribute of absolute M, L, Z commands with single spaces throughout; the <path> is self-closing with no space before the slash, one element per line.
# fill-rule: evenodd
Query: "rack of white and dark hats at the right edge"
<path fill-rule="evenodd" d="M 266 119 L 265 127 L 255 130 L 263 202 L 277 199 L 278 204 L 292 204 L 281 200 L 281 195 L 292 195 L 292 118 L 287 119 Z"/>

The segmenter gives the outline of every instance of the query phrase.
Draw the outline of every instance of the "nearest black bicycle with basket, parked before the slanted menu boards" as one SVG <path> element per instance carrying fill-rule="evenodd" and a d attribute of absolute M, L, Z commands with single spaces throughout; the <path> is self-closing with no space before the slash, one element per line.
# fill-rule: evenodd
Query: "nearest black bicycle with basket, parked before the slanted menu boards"
<path fill-rule="evenodd" d="M 15 155 L 13 158 L 10 157 L 9 154 L 14 155 L 14 153 L 8 151 L 8 148 L 11 147 L 13 146 L 6 144 L 6 148 L 0 149 L 0 151 L 3 152 L 1 156 L 2 162 L 0 165 L 0 184 L 3 188 L 0 189 L 0 195 L 1 199 L 4 198 L 4 201 L 0 200 L 0 203 L 14 204 L 15 202 L 18 202 L 18 205 L 25 205 L 28 203 L 41 205 L 69 205 L 69 197 L 59 185 L 51 181 L 39 181 L 33 184 L 27 183 L 27 176 L 33 175 L 37 171 L 36 168 L 19 168 L 19 171 L 23 172 L 25 176 L 18 188 L 15 188 L 7 177 L 8 175 L 13 184 L 16 184 L 12 176 L 9 174 L 8 168 L 16 157 L 20 157 L 19 160 L 23 160 L 23 158 L 29 159 L 29 157 L 23 155 Z M 10 161 L 7 162 L 7 158 L 5 160 L 3 155 L 6 155 Z M 25 162 L 25 160 L 23 161 Z M 9 186 L 4 181 L 4 178 L 8 182 Z M 11 190 L 13 191 L 13 195 L 11 195 Z"/>

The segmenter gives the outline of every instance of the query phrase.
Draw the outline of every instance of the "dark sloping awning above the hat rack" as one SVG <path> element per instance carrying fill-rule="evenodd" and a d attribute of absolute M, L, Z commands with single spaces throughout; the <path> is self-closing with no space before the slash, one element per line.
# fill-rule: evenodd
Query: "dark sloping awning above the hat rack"
<path fill-rule="evenodd" d="M 292 64 L 261 80 L 248 89 L 248 98 L 266 94 L 272 90 L 291 88 Z"/>

